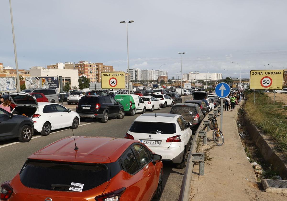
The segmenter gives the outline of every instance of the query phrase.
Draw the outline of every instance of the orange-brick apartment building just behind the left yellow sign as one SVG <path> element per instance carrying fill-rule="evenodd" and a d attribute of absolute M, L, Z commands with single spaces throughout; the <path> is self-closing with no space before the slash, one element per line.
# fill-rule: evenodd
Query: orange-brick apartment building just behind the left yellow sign
<path fill-rule="evenodd" d="M 104 65 L 103 63 L 91 63 L 89 61 L 79 61 L 75 64 L 75 69 L 79 75 L 85 74 L 91 82 L 101 82 L 101 72 L 114 71 L 113 66 Z"/>

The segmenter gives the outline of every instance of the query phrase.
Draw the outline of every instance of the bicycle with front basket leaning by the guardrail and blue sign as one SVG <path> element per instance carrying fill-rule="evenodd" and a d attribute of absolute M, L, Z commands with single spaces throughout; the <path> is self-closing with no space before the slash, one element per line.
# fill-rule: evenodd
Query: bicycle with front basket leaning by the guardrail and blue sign
<path fill-rule="evenodd" d="M 212 138 L 213 138 L 215 144 L 217 144 L 218 146 L 221 146 L 224 143 L 223 133 L 219 129 L 218 123 L 216 120 L 216 118 L 219 117 L 220 115 L 215 115 L 214 117 L 209 118 L 208 121 L 210 121 L 210 122 L 207 125 L 204 125 L 204 127 L 202 129 L 204 131 L 205 128 L 208 126 L 210 128 L 210 130 L 213 130 Z"/>

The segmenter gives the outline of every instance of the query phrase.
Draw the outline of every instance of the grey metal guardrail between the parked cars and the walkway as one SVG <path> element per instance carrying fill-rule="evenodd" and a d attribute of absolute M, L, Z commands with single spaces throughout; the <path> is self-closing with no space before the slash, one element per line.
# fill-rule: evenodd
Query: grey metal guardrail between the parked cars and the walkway
<path fill-rule="evenodd" d="M 213 110 L 213 116 L 217 115 L 220 113 L 220 108 L 219 109 L 214 109 Z M 202 127 L 206 124 L 206 120 L 210 118 L 210 115 L 207 115 L 204 117 L 203 121 L 201 121 L 197 131 L 195 132 L 193 141 L 191 143 L 191 149 L 187 158 L 187 164 L 185 167 L 182 183 L 181 183 L 181 190 L 179 193 L 179 201 L 188 201 L 189 200 L 189 195 L 190 195 L 190 184 L 191 184 L 191 177 L 193 173 L 193 166 L 194 162 L 198 161 L 199 162 L 199 175 L 203 176 L 204 175 L 204 153 L 196 153 L 196 141 L 197 138 L 203 137 L 203 144 L 204 142 L 206 143 L 206 132 L 204 136 L 204 132 L 202 132 Z M 205 120 L 205 122 L 204 122 Z"/>

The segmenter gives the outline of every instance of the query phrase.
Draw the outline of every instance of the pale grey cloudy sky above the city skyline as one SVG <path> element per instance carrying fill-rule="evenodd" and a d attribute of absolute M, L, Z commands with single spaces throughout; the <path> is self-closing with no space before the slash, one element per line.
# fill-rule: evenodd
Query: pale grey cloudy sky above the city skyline
<path fill-rule="evenodd" d="M 249 77 L 287 68 L 287 1 L 11 0 L 20 69 L 86 60 L 127 69 L 181 68 Z M 0 1 L 0 63 L 15 67 L 9 0 Z M 180 74 L 180 73 L 179 73 Z M 178 75 L 179 75 L 178 74 Z"/>

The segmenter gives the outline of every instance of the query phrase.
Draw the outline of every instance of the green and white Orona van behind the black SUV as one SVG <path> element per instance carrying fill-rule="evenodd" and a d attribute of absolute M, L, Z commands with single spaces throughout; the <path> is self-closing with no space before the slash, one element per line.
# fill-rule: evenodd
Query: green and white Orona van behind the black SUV
<path fill-rule="evenodd" d="M 146 105 L 144 100 L 136 94 L 117 94 L 115 100 L 124 107 L 124 111 L 131 116 L 135 113 L 146 113 Z"/>

